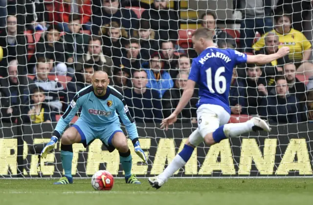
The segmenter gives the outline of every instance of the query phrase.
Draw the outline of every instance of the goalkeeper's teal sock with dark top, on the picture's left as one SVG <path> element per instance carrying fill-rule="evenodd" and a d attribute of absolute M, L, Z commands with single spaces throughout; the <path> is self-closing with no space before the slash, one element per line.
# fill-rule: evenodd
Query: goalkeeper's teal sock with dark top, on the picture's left
<path fill-rule="evenodd" d="M 61 160 L 65 176 L 72 177 L 73 146 L 61 143 Z"/>

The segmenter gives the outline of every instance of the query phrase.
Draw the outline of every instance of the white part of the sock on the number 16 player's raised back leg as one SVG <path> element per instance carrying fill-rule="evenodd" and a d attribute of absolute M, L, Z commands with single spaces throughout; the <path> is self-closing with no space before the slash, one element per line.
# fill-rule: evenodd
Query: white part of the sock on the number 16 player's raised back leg
<path fill-rule="evenodd" d="M 246 123 L 229 123 L 224 125 L 224 133 L 226 137 L 237 137 L 246 132 L 251 132 L 254 123 L 247 121 Z"/>

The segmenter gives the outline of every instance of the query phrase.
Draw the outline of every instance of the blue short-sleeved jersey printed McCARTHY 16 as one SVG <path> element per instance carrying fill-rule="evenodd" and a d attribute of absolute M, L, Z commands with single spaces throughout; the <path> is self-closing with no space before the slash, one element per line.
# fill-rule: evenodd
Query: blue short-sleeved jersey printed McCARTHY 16
<path fill-rule="evenodd" d="M 201 104 L 216 104 L 230 113 L 229 88 L 233 68 L 246 62 L 246 54 L 233 49 L 206 48 L 192 62 L 188 79 L 199 85 L 199 101 Z"/>

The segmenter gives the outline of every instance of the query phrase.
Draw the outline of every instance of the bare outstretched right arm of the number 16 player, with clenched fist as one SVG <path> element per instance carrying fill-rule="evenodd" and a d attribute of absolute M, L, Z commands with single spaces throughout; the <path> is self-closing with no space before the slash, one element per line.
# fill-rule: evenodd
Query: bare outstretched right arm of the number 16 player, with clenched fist
<path fill-rule="evenodd" d="M 276 53 L 270 55 L 258 54 L 258 55 L 247 55 L 246 63 L 257 63 L 257 64 L 266 64 L 274 60 L 283 58 L 289 54 L 289 47 L 283 46 Z"/>

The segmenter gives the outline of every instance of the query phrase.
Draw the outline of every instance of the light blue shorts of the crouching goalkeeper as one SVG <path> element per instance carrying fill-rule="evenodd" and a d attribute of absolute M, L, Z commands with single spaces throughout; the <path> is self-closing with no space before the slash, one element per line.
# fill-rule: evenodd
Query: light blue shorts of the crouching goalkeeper
<path fill-rule="evenodd" d="M 116 132 L 123 132 L 121 129 L 121 123 L 119 121 L 114 121 L 110 124 L 99 126 L 92 126 L 81 118 L 79 118 L 72 127 L 77 129 L 81 136 L 81 142 L 84 146 L 88 146 L 95 139 L 101 140 L 106 145 L 113 146 L 112 139 Z"/>

